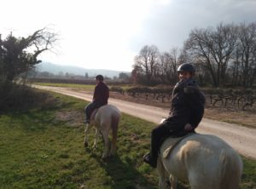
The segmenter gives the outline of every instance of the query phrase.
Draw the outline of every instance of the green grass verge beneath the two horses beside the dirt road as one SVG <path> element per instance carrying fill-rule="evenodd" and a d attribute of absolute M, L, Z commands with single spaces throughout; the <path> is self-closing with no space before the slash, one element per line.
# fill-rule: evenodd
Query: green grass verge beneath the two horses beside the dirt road
<path fill-rule="evenodd" d="M 85 150 L 84 100 L 52 94 L 45 106 L 0 115 L 0 188 L 157 188 L 143 163 L 154 123 L 123 114 L 118 155 L 102 161 L 102 142 Z M 90 134 L 90 146 L 93 134 Z M 256 161 L 243 158 L 242 189 L 256 188 Z M 185 188 L 179 185 L 179 188 Z"/>

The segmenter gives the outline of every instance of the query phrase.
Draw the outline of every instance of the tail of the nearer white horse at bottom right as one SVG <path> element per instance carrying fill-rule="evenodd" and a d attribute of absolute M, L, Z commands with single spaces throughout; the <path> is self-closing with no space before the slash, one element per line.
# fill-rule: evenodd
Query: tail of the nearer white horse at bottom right
<path fill-rule="evenodd" d="M 241 180 L 242 162 L 240 156 L 233 150 L 221 153 L 223 166 L 221 173 L 221 189 L 238 189 Z"/>

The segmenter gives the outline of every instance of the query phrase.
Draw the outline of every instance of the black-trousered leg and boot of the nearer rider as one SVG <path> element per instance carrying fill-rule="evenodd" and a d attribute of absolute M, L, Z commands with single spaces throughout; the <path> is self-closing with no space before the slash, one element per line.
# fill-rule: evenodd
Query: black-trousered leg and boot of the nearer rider
<path fill-rule="evenodd" d="M 145 163 L 150 164 L 153 168 L 157 165 L 158 152 L 163 139 L 171 135 L 170 129 L 167 129 L 164 124 L 160 124 L 151 132 L 151 152 L 144 156 Z"/>

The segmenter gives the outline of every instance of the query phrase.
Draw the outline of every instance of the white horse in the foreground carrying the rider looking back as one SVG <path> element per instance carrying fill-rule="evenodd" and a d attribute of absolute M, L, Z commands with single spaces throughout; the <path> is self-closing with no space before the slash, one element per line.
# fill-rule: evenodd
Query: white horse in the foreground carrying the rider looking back
<path fill-rule="evenodd" d="M 177 188 L 177 180 L 189 182 L 191 189 L 238 189 L 241 158 L 224 140 L 193 134 L 174 145 L 176 141 L 167 138 L 160 147 L 160 189 L 170 188 L 166 180 L 171 182 L 171 189 Z"/>

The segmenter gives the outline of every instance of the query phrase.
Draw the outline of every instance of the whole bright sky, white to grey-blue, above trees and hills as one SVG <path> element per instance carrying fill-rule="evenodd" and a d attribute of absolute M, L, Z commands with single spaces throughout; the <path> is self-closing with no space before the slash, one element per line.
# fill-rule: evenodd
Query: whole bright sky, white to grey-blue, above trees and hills
<path fill-rule="evenodd" d="M 0 0 L 2 38 L 47 26 L 54 53 L 39 59 L 87 69 L 131 72 L 145 45 L 182 48 L 189 32 L 219 23 L 256 21 L 256 0 Z"/>

